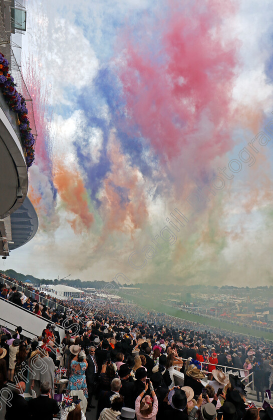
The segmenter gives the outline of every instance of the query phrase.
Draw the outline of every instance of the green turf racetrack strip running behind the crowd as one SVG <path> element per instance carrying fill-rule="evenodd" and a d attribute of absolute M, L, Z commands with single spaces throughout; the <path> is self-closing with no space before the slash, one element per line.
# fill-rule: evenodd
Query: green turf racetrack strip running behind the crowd
<path fill-rule="evenodd" d="M 207 326 L 215 326 L 217 328 L 227 329 L 228 331 L 239 332 L 241 334 L 252 335 L 254 337 L 263 337 L 268 340 L 273 339 L 273 334 L 271 334 L 270 332 L 260 331 L 258 329 L 246 328 L 240 325 L 230 324 L 224 321 L 218 321 L 218 319 L 211 319 L 211 318 L 205 318 L 199 315 L 194 315 L 193 313 L 189 313 L 184 310 L 178 310 L 178 309 L 172 308 L 168 305 L 165 305 L 164 303 L 160 301 L 155 302 L 153 299 L 150 299 L 148 297 L 133 296 L 133 295 L 123 293 L 121 291 L 118 291 L 117 294 L 120 297 L 123 297 L 127 300 L 132 300 L 133 302 L 139 304 L 140 306 L 146 307 L 148 310 L 153 309 L 153 310 L 156 310 L 157 312 L 164 312 L 164 313 L 167 313 L 168 315 L 176 316 L 177 318 L 186 319 L 188 321 L 193 321 L 193 322 L 199 322 Z"/>

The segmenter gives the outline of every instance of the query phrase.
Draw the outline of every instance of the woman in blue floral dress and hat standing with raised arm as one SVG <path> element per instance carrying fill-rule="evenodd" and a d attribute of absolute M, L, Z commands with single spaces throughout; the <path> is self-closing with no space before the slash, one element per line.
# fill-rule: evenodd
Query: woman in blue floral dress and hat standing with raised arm
<path fill-rule="evenodd" d="M 68 381 L 68 391 L 82 390 L 86 398 L 88 398 L 85 371 L 87 368 L 86 355 L 84 351 L 80 351 L 79 345 L 71 345 L 69 347 L 75 357 L 71 360 L 70 376 Z"/>

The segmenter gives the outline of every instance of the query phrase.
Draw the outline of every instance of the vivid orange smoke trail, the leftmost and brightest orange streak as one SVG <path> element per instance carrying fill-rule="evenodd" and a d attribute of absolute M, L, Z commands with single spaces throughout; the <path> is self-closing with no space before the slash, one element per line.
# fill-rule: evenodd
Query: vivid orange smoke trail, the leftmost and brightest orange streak
<path fill-rule="evenodd" d="M 53 179 L 66 209 L 78 216 L 68 220 L 75 233 L 89 229 L 94 216 L 88 208 L 87 191 L 80 173 L 77 170 L 69 170 L 59 162 L 55 167 Z"/>

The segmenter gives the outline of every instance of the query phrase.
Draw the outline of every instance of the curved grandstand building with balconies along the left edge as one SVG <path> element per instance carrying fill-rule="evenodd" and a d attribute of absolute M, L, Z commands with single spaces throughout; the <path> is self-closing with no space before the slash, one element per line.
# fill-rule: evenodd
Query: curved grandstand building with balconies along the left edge
<path fill-rule="evenodd" d="M 26 101 L 30 127 L 36 140 L 32 98 L 13 51 L 13 47 L 19 49 L 20 35 L 25 30 L 24 2 L 0 0 L 0 52 L 9 61 L 9 73 L 17 84 L 18 93 Z M 0 255 L 3 258 L 32 239 L 38 229 L 38 216 L 27 198 L 29 162 L 19 124 L 18 112 L 7 103 L 0 89 Z"/>

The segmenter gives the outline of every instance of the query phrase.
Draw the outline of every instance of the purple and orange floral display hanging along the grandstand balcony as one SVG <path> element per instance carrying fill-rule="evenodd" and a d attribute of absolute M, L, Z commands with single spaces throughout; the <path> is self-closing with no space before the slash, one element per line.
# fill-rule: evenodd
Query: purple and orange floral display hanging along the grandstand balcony
<path fill-rule="evenodd" d="M 30 167 L 34 162 L 35 139 L 31 132 L 26 101 L 16 90 L 14 78 L 9 73 L 9 65 L 7 58 L 0 52 L 0 89 L 9 107 L 18 114 L 19 130 L 25 147 L 26 163 Z"/>

